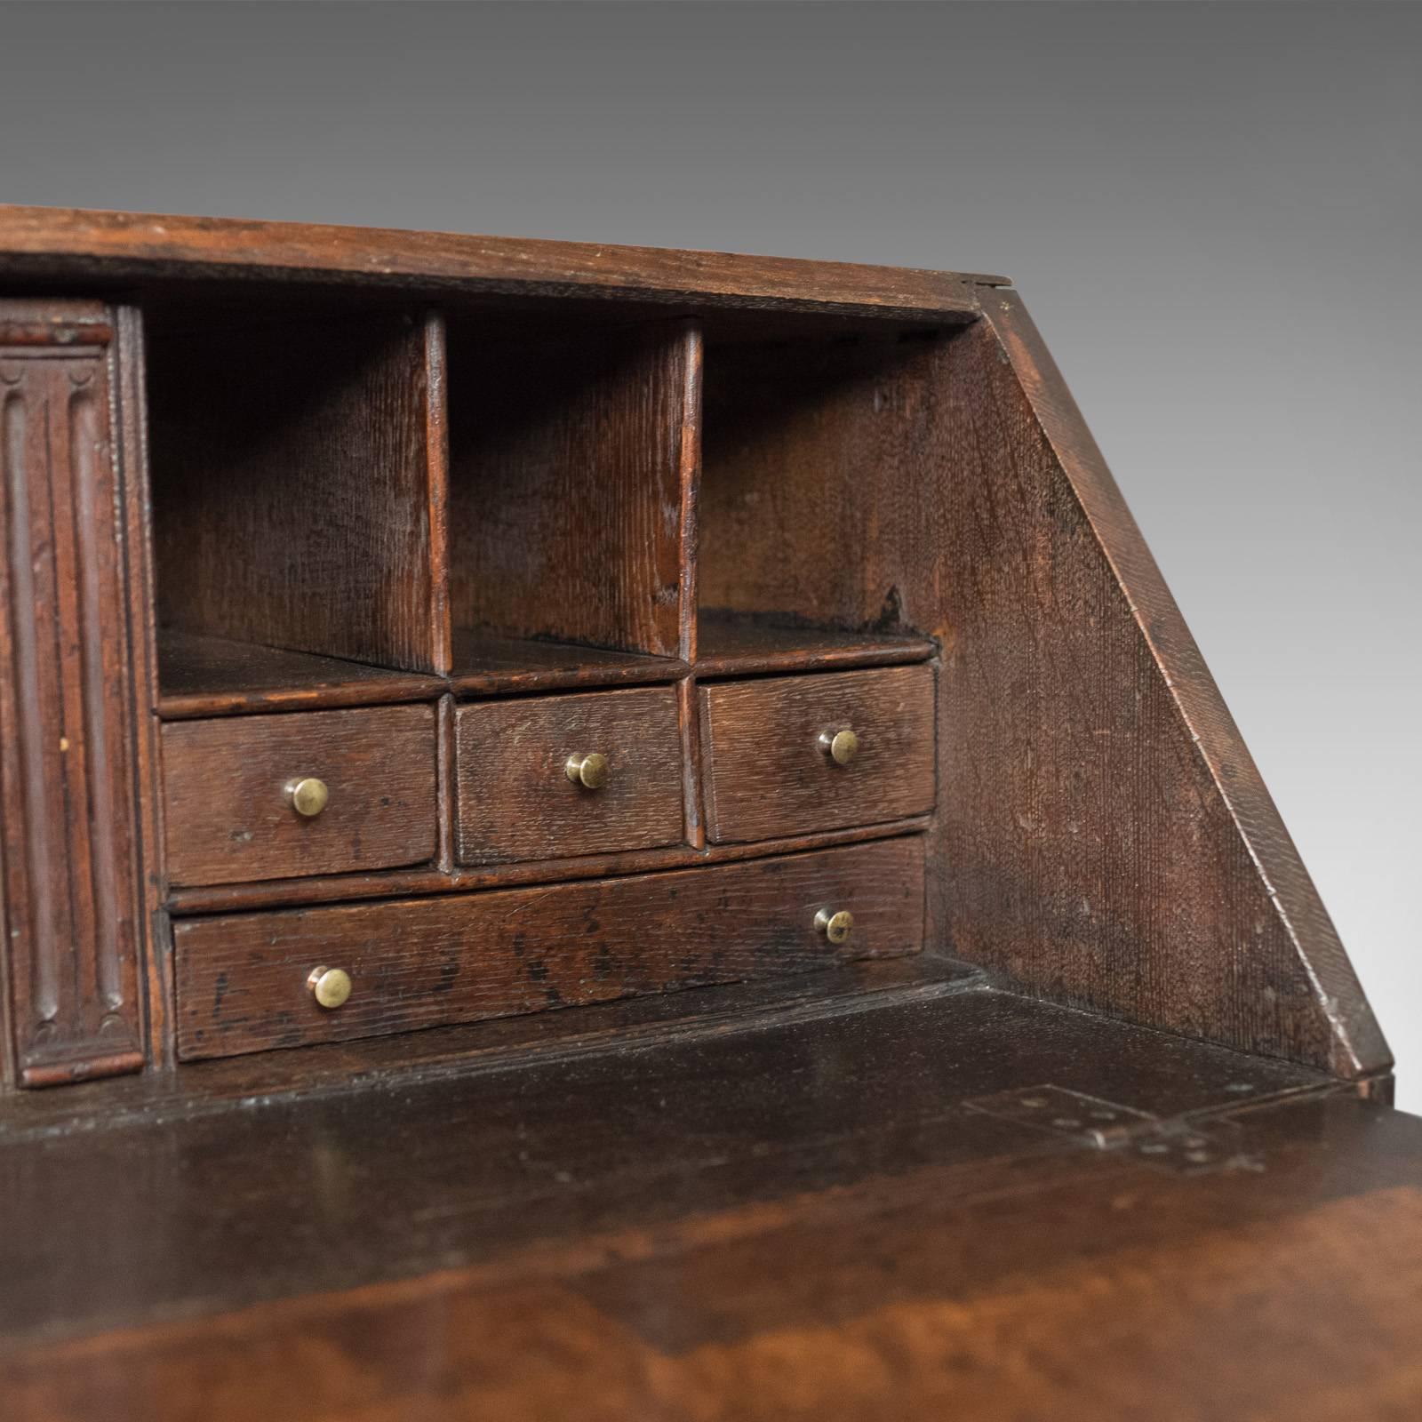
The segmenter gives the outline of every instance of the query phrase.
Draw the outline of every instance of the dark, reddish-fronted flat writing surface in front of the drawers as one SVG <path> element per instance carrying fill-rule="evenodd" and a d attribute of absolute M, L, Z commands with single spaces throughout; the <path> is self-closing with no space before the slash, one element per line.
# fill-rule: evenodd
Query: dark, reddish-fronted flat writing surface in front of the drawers
<path fill-rule="evenodd" d="M 1042 1088 L 1129 1125 L 994 1105 Z M 967 987 L 14 1139 L 0 1381 L 17 1422 L 1394 1422 L 1422 1126 L 1337 1092 Z M 27 1227 L 60 1182 L 109 1227 Z"/>

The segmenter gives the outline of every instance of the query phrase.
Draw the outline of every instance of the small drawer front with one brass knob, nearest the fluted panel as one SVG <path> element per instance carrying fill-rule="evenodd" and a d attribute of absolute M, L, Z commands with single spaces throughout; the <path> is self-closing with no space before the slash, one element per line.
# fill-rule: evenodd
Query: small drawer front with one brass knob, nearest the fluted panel
<path fill-rule="evenodd" d="M 172 722 L 162 755 L 172 883 L 294 879 L 434 857 L 434 707 Z M 326 786 L 314 815 L 293 803 L 301 781 Z M 300 799 L 307 809 L 311 793 L 309 784 Z"/>

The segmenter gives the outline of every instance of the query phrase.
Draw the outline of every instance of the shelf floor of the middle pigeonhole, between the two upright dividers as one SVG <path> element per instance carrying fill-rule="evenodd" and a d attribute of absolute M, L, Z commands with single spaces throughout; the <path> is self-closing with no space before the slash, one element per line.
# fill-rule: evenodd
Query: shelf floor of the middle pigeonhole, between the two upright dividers
<path fill-rule="evenodd" d="M 687 670 L 674 657 L 455 629 L 449 685 L 465 695 L 510 695 L 569 687 L 653 685 L 675 681 Z"/>

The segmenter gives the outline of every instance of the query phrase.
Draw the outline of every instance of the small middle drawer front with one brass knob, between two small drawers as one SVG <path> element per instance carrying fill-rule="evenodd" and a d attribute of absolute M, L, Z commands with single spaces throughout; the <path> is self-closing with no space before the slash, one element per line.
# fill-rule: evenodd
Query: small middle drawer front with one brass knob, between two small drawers
<path fill-rule="evenodd" d="M 681 843 L 674 688 L 483 701 L 459 707 L 456 727 L 461 863 Z M 604 764 L 570 778 L 580 757 Z"/>

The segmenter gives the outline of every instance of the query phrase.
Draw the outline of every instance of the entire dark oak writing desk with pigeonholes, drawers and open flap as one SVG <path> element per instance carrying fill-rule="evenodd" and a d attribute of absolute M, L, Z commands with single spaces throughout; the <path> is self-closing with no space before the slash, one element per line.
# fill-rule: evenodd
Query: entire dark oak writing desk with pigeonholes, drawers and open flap
<path fill-rule="evenodd" d="M 1000 277 L 0 208 L 0 1396 L 1413 1416 L 1422 1130 Z"/>

